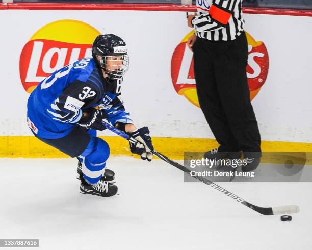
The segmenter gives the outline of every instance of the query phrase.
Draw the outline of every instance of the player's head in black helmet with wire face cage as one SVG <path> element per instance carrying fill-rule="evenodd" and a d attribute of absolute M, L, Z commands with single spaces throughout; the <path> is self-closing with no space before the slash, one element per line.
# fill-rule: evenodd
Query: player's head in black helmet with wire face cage
<path fill-rule="evenodd" d="M 129 68 L 127 45 L 114 34 L 99 35 L 92 44 L 92 55 L 110 79 L 121 78 Z"/>

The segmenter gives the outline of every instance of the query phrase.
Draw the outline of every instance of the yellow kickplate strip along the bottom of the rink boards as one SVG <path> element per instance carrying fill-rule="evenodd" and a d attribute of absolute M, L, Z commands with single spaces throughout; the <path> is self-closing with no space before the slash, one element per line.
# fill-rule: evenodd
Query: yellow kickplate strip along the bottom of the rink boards
<path fill-rule="evenodd" d="M 112 155 L 132 155 L 129 151 L 129 143 L 125 139 L 116 136 L 100 136 L 100 138 L 108 142 Z M 153 137 L 152 140 L 157 151 L 174 160 L 183 160 L 184 152 L 205 152 L 218 147 L 215 139 Z M 284 163 L 286 158 L 292 157 L 294 164 L 306 159 L 306 164 L 312 165 L 312 143 L 262 141 L 261 147 L 264 152 L 261 160 L 263 163 Z M 35 136 L 0 136 L 0 157 L 64 158 L 68 156 Z"/>

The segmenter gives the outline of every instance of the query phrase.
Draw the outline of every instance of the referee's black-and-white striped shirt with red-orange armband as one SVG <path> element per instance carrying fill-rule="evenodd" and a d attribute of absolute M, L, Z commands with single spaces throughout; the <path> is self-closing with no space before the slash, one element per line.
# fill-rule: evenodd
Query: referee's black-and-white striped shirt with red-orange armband
<path fill-rule="evenodd" d="M 230 41 L 243 31 L 243 0 L 196 0 L 197 16 L 192 19 L 196 36 L 211 41 Z"/>

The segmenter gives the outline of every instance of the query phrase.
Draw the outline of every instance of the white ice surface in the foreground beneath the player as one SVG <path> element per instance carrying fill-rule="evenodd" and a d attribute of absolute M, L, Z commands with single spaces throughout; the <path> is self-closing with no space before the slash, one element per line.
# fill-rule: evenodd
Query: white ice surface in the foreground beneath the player
<path fill-rule="evenodd" d="M 219 183 L 258 206 L 299 205 L 282 222 L 161 160 L 111 157 L 108 168 L 120 195 L 102 198 L 79 193 L 76 159 L 0 159 L 0 238 L 39 239 L 39 249 L 312 249 L 311 183 Z"/>

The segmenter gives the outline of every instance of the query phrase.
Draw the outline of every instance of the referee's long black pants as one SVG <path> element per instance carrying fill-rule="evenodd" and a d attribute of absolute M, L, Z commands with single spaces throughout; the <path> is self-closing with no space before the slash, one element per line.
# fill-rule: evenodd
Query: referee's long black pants
<path fill-rule="evenodd" d="M 247 46 L 245 33 L 233 41 L 197 37 L 194 72 L 199 104 L 219 151 L 242 150 L 245 157 L 260 157 L 260 133 L 246 74 Z"/>

